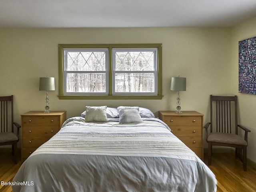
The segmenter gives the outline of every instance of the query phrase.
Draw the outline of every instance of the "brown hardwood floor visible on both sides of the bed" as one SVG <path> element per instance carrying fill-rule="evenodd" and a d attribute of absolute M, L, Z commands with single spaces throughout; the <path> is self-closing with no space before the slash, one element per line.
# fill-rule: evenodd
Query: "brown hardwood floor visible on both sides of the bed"
<path fill-rule="evenodd" d="M 207 154 L 204 157 L 207 164 Z M 14 165 L 10 153 L 0 153 L 0 182 L 12 181 L 20 165 L 20 159 Z M 243 171 L 233 153 L 213 153 L 210 169 L 218 180 L 217 192 L 256 192 L 256 168 L 248 164 L 247 171 Z M 0 192 L 12 192 L 12 187 L 0 185 Z"/>

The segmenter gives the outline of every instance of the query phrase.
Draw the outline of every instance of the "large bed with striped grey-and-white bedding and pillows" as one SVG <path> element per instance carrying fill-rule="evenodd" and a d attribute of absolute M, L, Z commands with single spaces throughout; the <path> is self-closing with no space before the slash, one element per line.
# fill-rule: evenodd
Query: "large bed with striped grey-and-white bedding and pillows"
<path fill-rule="evenodd" d="M 163 121 L 126 106 L 86 106 L 24 161 L 12 182 L 14 192 L 217 189 L 212 171 Z"/>

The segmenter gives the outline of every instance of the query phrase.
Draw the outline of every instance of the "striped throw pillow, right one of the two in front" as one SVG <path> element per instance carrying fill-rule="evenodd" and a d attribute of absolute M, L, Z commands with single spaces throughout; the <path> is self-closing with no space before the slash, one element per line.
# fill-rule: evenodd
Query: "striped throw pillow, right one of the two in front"
<path fill-rule="evenodd" d="M 139 107 L 119 106 L 117 109 L 120 123 L 142 122 L 142 118 L 140 117 L 139 113 Z"/>

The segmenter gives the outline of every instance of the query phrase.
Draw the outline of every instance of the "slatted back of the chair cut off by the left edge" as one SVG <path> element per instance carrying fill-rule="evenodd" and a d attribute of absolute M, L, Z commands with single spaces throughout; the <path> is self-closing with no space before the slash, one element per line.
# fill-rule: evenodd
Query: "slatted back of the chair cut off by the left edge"
<path fill-rule="evenodd" d="M 13 132 L 13 96 L 0 97 L 0 103 L 1 132 Z M 9 127 L 11 128 L 11 130 L 9 130 Z"/>

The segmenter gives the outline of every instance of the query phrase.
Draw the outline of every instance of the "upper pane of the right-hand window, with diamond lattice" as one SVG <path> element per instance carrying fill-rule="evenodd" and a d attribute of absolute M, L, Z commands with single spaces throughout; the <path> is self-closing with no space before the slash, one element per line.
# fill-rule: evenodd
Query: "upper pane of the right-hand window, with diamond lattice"
<path fill-rule="evenodd" d="M 116 71 L 154 71 L 154 51 L 116 51 Z"/>

